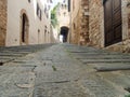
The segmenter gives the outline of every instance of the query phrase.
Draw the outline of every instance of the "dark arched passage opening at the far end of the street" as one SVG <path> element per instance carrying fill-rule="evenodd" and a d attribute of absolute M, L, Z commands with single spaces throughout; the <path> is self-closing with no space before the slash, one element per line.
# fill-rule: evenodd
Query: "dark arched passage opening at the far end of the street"
<path fill-rule="evenodd" d="M 67 37 L 68 37 L 68 30 L 69 28 L 66 26 L 61 27 L 61 36 L 63 37 L 63 42 L 67 42 Z"/>

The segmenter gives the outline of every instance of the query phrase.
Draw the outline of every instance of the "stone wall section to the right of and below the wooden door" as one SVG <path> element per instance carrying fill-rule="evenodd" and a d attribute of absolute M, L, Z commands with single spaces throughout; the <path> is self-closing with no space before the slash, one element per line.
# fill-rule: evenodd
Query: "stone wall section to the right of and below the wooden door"
<path fill-rule="evenodd" d="M 130 1 L 121 0 L 121 4 L 122 41 L 107 46 L 106 50 L 130 53 Z"/>

